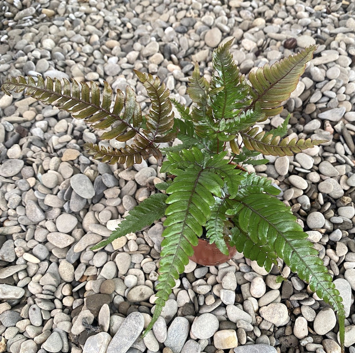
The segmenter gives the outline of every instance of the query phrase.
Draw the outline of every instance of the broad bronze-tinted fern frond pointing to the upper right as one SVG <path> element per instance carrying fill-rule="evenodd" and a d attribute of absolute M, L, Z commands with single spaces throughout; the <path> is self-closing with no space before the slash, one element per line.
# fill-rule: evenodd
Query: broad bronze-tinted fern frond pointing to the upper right
<path fill-rule="evenodd" d="M 267 117 L 279 114 L 283 110 L 280 104 L 288 99 L 291 92 L 295 90 L 307 62 L 312 59 L 313 52 L 316 49 L 316 45 L 311 45 L 302 52 L 289 56 L 271 66 L 265 64 L 255 72 L 250 72 L 251 106 L 260 102 L 261 109 Z"/>

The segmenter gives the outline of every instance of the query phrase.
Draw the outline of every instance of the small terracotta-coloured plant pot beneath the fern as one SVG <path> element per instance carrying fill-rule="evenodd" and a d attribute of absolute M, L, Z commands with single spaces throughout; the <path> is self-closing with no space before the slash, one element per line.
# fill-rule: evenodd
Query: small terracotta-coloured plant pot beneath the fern
<path fill-rule="evenodd" d="M 237 249 L 229 244 L 227 244 L 227 248 L 229 255 L 224 255 L 214 243 L 210 244 L 208 240 L 199 238 L 198 245 L 193 247 L 194 255 L 189 259 L 203 266 L 219 265 L 231 259 L 237 252 Z"/>

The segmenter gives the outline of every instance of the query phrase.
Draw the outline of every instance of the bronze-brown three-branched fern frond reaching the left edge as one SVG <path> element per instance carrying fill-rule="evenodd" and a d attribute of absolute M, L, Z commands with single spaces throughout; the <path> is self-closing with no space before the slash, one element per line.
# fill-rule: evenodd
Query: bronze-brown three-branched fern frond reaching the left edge
<path fill-rule="evenodd" d="M 126 95 L 121 90 L 117 90 L 116 97 L 113 99 L 112 89 L 106 82 L 104 82 L 104 91 L 101 96 L 99 86 L 95 82 L 91 82 L 90 87 L 85 82 L 81 82 L 79 86 L 75 80 L 70 83 L 66 79 L 63 79 L 62 84 L 60 80 L 52 80 L 49 77 L 45 82 L 43 77 L 38 75 L 37 82 L 31 76 L 27 80 L 21 76 L 11 77 L 3 83 L 1 89 L 6 94 L 10 91 L 24 92 L 44 104 L 55 103 L 59 109 L 67 111 L 76 119 L 83 119 L 92 128 L 111 127 L 109 131 L 101 135 L 102 140 L 114 138 L 124 142 L 133 138 L 131 146 L 126 146 L 121 151 L 108 150 L 107 155 L 105 155 L 106 149 L 100 150 L 89 146 L 89 152 L 94 153 L 95 158 L 100 157 L 103 161 L 110 161 L 110 163 L 119 160 L 120 163 L 126 162 L 128 167 L 135 160 L 146 159 L 149 154 L 152 154 L 160 164 L 162 155 L 155 143 L 174 137 L 174 134 L 169 131 L 174 124 L 172 106 L 167 98 L 169 91 L 164 91 L 165 86 L 156 88 L 157 84 L 156 81 L 152 84 L 152 90 L 156 89 L 156 96 L 152 98 L 152 110 L 156 110 L 156 114 L 151 113 L 146 118 L 146 128 L 142 131 L 140 130 L 142 127 L 141 106 L 137 102 L 133 89 L 129 86 L 126 88 Z"/>

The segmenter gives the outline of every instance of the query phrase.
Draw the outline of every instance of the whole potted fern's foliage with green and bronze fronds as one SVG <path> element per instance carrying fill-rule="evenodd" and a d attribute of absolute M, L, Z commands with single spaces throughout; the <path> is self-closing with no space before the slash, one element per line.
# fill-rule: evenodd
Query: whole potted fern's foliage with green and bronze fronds
<path fill-rule="evenodd" d="M 157 185 L 155 193 L 130 211 L 110 237 L 96 245 L 99 249 L 127 233 L 141 230 L 155 220 L 164 221 L 155 310 L 145 335 L 158 319 L 175 281 L 193 255 L 198 238 L 206 236 L 227 254 L 227 243 L 266 270 L 280 257 L 310 284 L 317 295 L 338 313 L 344 352 L 345 311 L 342 298 L 307 234 L 296 223 L 290 209 L 275 196 L 279 190 L 255 173 L 236 168 L 234 161 L 248 161 L 258 153 L 291 156 L 318 145 L 323 140 L 281 138 L 285 124 L 259 132 L 255 123 L 280 113 L 281 103 L 296 88 L 300 75 L 311 60 L 315 46 L 279 63 L 268 64 L 249 73 L 249 83 L 240 74 L 230 53 L 232 41 L 213 51 L 213 76 L 201 77 L 196 64 L 187 92 L 191 108 L 169 98 L 169 91 L 158 78 L 135 71 L 151 100 L 150 110 L 142 115 L 132 88 L 125 95 L 105 83 L 103 94 L 94 82 L 70 83 L 38 76 L 9 78 L 2 91 L 25 92 L 46 103 L 55 103 L 74 118 L 83 119 L 94 129 L 104 130 L 102 140 L 125 141 L 120 149 L 109 144 L 87 144 L 94 159 L 110 164 L 140 163 L 153 155 L 161 171 L 173 180 Z M 175 116 L 172 101 L 179 116 Z M 159 148 L 161 142 L 178 137 L 181 144 Z M 163 153 L 166 160 L 163 161 Z M 264 161 L 262 161 L 264 162 Z"/>

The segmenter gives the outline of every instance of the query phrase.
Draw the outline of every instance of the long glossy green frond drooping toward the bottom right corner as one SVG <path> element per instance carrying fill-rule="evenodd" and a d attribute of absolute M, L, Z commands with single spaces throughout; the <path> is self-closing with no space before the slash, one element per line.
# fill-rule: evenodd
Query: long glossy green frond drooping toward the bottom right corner
<path fill-rule="evenodd" d="M 255 244 L 272 247 L 291 271 L 308 282 L 310 288 L 338 312 L 340 332 L 344 332 L 345 311 L 339 291 L 289 208 L 266 193 L 252 193 L 235 201 L 235 206 L 227 213 L 235 216 L 240 229 L 249 234 Z"/>

